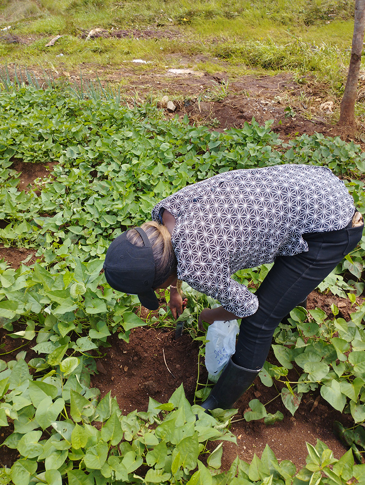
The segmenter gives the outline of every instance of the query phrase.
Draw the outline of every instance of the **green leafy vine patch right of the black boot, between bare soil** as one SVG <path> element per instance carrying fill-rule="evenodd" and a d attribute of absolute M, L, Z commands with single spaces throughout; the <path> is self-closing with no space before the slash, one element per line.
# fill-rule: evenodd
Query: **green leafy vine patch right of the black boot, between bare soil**
<path fill-rule="evenodd" d="M 338 308 L 333 304 L 331 309 L 336 316 Z M 351 314 L 349 322 L 344 318 L 331 320 L 318 308 L 309 313 L 310 319 L 307 319 L 305 310 L 298 307 L 291 312 L 289 324 L 279 325 L 273 350 L 281 367 L 265 362 L 259 373 L 261 382 L 268 387 L 275 381 L 284 384 L 278 395 L 292 414 L 298 409 L 303 393 L 319 388 L 321 396 L 334 409 L 350 413 L 355 423 L 362 423 L 365 421 L 362 351 L 365 305 Z M 245 413 L 246 420 L 268 416 L 256 399 L 250 407 L 251 411 Z"/>

